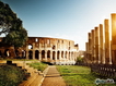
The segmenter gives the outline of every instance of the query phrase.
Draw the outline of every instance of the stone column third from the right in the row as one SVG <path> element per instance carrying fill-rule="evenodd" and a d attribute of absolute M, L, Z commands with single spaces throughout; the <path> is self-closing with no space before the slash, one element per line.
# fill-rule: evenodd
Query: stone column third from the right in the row
<path fill-rule="evenodd" d="M 103 36 L 103 25 L 102 24 L 100 24 L 100 59 L 101 59 L 101 63 L 105 64 L 104 36 Z"/>

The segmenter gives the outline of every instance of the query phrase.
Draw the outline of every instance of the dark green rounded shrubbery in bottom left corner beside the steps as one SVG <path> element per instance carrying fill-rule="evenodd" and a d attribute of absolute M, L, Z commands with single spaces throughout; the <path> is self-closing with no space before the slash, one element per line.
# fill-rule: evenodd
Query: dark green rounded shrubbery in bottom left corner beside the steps
<path fill-rule="evenodd" d="M 0 65 L 0 86 L 18 86 L 25 78 L 25 73 L 13 65 Z"/>

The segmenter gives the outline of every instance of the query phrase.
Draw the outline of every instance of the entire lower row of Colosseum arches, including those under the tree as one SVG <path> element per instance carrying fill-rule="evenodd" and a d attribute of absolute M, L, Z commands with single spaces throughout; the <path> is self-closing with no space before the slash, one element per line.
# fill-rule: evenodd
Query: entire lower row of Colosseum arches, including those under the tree
<path fill-rule="evenodd" d="M 28 54 L 28 56 L 27 56 Z M 1 57 L 10 57 L 10 50 L 5 49 L 4 52 L 0 50 L 0 58 Z M 73 51 L 50 51 L 50 50 L 28 50 L 25 51 L 23 50 L 22 52 L 19 52 L 15 50 L 15 57 L 22 57 L 22 58 L 27 58 L 27 59 L 37 59 L 37 60 L 43 60 L 45 58 L 50 59 L 53 57 L 53 60 L 60 60 L 61 59 L 67 59 L 71 60 L 76 58 L 76 52 Z"/>

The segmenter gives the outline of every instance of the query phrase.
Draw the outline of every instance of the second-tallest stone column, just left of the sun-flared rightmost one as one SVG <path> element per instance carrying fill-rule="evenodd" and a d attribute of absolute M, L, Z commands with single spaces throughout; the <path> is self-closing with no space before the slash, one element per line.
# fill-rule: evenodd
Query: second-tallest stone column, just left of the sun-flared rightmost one
<path fill-rule="evenodd" d="M 105 29 L 105 63 L 111 64 L 111 57 L 109 57 L 109 24 L 108 20 L 104 21 L 104 29 Z"/>

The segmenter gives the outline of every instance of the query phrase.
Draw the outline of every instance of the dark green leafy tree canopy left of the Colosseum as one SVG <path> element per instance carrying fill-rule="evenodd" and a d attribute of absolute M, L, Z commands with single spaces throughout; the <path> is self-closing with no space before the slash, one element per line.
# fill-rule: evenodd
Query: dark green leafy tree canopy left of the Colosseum
<path fill-rule="evenodd" d="M 10 9 L 9 4 L 0 1 L 0 35 L 5 34 L 2 42 L 14 47 L 22 47 L 27 40 L 27 30 L 22 21 Z"/>

